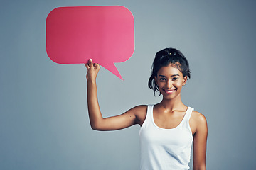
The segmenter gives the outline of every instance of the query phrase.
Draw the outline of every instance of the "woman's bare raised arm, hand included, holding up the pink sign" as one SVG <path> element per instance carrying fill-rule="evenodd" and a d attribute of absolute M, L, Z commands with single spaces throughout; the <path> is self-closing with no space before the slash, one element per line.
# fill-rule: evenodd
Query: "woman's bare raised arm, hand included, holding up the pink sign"
<path fill-rule="evenodd" d="M 146 115 L 146 106 L 137 106 L 122 115 L 113 116 L 110 118 L 103 118 L 100 112 L 100 106 L 97 99 L 97 85 L 96 77 L 100 71 L 99 64 L 93 64 L 89 60 L 89 64 L 85 64 L 87 68 L 87 104 L 90 118 L 90 125 L 93 130 L 119 130 L 127 128 L 135 124 L 141 124 Z M 144 114 L 143 114 L 144 113 Z"/>

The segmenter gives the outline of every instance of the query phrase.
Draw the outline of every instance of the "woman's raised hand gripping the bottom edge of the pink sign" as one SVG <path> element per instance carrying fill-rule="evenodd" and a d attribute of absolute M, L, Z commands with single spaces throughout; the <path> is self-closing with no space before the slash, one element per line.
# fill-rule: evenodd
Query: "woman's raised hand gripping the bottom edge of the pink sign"
<path fill-rule="evenodd" d="M 100 71 L 100 64 L 93 63 L 92 59 L 89 60 L 87 64 L 85 64 L 85 67 L 87 68 L 87 74 L 86 79 L 95 81 L 98 72 Z"/>

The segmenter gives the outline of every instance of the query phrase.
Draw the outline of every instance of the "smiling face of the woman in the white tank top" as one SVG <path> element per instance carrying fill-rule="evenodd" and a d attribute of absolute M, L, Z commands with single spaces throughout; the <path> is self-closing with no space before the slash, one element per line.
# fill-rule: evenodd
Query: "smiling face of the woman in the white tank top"
<path fill-rule="evenodd" d="M 182 72 L 169 64 L 159 69 L 155 81 L 164 98 L 173 99 L 181 95 L 181 89 L 186 84 L 187 77 L 183 77 Z"/>

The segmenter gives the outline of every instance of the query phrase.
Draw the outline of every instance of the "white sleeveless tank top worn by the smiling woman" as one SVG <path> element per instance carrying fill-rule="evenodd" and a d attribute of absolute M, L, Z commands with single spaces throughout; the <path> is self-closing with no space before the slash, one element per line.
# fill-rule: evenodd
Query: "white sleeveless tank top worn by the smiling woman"
<path fill-rule="evenodd" d="M 154 123 L 154 105 L 149 105 L 146 119 L 139 130 L 142 170 L 189 169 L 193 135 L 189 118 L 193 108 L 188 107 L 181 123 L 172 129 L 160 128 Z"/>

